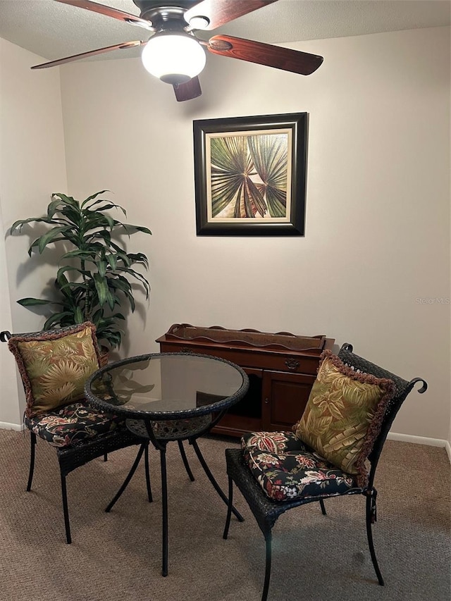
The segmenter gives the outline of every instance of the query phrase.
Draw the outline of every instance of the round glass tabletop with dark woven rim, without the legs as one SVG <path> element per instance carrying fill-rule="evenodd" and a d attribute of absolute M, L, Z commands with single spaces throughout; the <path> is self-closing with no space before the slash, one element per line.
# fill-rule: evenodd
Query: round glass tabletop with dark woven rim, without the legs
<path fill-rule="evenodd" d="M 224 359 L 156 353 L 101 368 L 89 378 L 86 392 L 99 409 L 159 421 L 228 409 L 245 395 L 248 385 L 242 368 Z"/>

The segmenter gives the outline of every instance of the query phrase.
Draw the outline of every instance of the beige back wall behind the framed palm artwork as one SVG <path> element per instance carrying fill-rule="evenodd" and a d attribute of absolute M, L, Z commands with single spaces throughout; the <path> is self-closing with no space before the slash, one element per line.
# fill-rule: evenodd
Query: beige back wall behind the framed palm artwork
<path fill-rule="evenodd" d="M 158 350 L 176 322 L 326 333 L 426 378 L 393 430 L 448 438 L 450 306 L 417 299 L 451 296 L 450 30 L 290 46 L 323 66 L 303 78 L 209 56 L 186 103 L 139 59 L 60 69 L 68 192 L 108 188 L 153 232 L 130 242 L 149 255 L 152 298 L 121 353 Z M 304 111 L 305 237 L 197 237 L 192 120 Z"/>

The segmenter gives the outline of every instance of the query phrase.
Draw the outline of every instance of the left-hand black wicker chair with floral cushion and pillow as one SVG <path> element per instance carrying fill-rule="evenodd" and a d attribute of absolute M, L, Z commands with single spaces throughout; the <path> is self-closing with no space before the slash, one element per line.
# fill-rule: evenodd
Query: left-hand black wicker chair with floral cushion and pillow
<path fill-rule="evenodd" d="M 46 345 L 48 349 L 49 344 L 54 345 L 58 341 L 60 344 L 61 342 L 66 342 L 68 344 L 66 355 L 52 357 L 51 359 L 46 357 L 44 359 L 46 361 L 44 365 L 45 371 L 42 372 L 41 376 L 44 375 L 45 377 L 46 371 L 49 374 L 49 371 L 52 369 L 58 370 L 63 365 L 69 366 L 66 370 L 68 372 L 68 381 L 64 384 L 70 388 L 72 385 L 70 382 L 70 370 L 78 367 L 78 362 L 82 361 L 80 355 L 83 356 L 86 354 L 88 349 L 88 352 L 92 353 L 92 356 L 89 358 L 92 360 L 92 363 L 85 372 L 84 379 L 83 377 L 81 380 L 78 379 L 78 390 L 80 392 L 80 387 L 82 391 L 85 383 L 84 380 L 87 379 L 92 371 L 99 367 L 99 348 L 94 333 L 94 326 L 88 322 L 80 326 L 70 326 L 68 328 L 47 330 L 44 332 L 11 334 L 5 330 L 0 333 L 1 342 L 8 342 L 9 349 L 16 357 L 16 363 L 18 364 L 27 400 L 24 424 L 31 433 L 30 471 L 27 491 L 31 490 L 35 469 L 35 447 L 37 438 L 40 438 L 56 448 L 61 473 L 61 494 L 67 543 L 70 543 L 72 539 L 70 535 L 66 476 L 74 469 L 87 464 L 92 459 L 104 456 L 104 460 L 106 461 L 107 454 L 112 451 L 123 449 L 130 445 L 140 445 L 137 461 L 140 460 L 144 453 L 147 496 L 149 502 L 152 501 L 149 477 L 149 443 L 148 441 L 143 442 L 142 438 L 132 434 L 126 428 L 125 421 L 122 418 L 89 407 L 82 395 L 78 395 L 76 399 L 70 399 L 70 395 L 66 398 L 60 398 L 55 407 L 47 409 L 43 409 L 42 403 L 39 406 L 39 402 L 37 402 L 37 397 L 39 395 L 42 397 L 42 390 L 39 390 L 39 378 L 36 377 L 36 369 L 33 368 L 33 359 L 39 357 L 39 360 L 42 360 L 46 352 Z M 53 350 L 51 353 L 53 353 Z M 70 364 L 66 361 L 69 356 L 74 357 Z M 60 378 L 64 377 L 61 376 L 61 372 L 58 373 Z"/>

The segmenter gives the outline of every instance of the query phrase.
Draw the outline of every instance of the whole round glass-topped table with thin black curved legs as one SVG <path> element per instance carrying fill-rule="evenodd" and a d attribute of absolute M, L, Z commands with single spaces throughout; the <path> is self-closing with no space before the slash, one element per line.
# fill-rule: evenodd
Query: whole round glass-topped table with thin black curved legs
<path fill-rule="evenodd" d="M 248 388 L 249 379 L 240 366 L 226 359 L 194 353 L 154 353 L 123 359 L 99 369 L 87 380 L 85 397 L 89 404 L 124 416 L 129 430 L 143 440 L 135 463 L 106 507 L 107 512 L 121 497 L 144 452 L 148 461 L 149 441 L 160 452 L 163 576 L 168 574 L 166 445 L 174 440 L 178 442 L 187 474 L 194 480 L 183 447 L 183 440 L 188 440 L 209 481 L 227 504 L 228 498 L 211 473 L 197 438 L 208 433 L 228 408 L 242 399 Z M 147 466 L 147 490 L 152 501 L 148 473 Z M 233 511 L 242 521 L 237 510 Z"/>

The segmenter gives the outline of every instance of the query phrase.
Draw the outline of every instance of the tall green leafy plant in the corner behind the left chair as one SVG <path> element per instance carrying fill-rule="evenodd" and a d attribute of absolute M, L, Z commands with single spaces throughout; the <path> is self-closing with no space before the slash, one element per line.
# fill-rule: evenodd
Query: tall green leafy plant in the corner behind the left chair
<path fill-rule="evenodd" d="M 44 330 L 92 321 L 101 345 L 113 349 L 121 345 L 123 330 L 119 323 L 125 320 L 118 309 L 125 301 L 135 311 L 132 282 L 146 299 L 150 292 L 147 278 L 132 268 L 141 265 L 148 270 L 147 256 L 127 252 L 121 235 L 152 232 L 141 225 L 122 223 L 106 213 L 117 209 L 127 215 L 122 206 L 99 198 L 105 192 L 108 190 L 96 192 L 81 204 L 66 194 L 52 194 L 47 215 L 20 219 L 13 223 L 10 233 L 20 233 L 27 223 L 48 224 L 51 227 L 32 242 L 28 254 L 42 254 L 49 244 L 61 245 L 63 250 L 54 282 L 56 297 L 23 298 L 18 303 L 26 307 L 58 306 L 44 323 Z"/>

